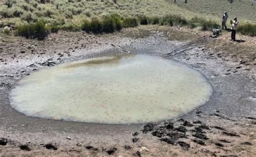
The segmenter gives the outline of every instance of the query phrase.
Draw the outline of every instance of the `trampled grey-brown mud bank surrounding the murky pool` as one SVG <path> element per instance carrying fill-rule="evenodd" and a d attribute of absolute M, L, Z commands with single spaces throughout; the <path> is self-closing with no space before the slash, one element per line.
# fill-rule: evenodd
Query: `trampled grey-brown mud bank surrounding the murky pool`
<path fill-rule="evenodd" d="M 238 60 L 194 41 L 143 37 L 95 37 L 60 32 L 45 41 L 3 39 L 0 45 L 0 154 L 114 156 L 255 156 L 255 59 Z M 134 34 L 132 35 L 134 36 Z M 136 35 L 135 35 L 136 36 Z M 142 125 L 103 125 L 26 117 L 9 105 L 9 91 L 42 68 L 98 56 L 152 54 L 199 70 L 214 89 L 205 105 L 178 119 Z M 255 58 L 254 53 L 245 54 Z M 251 56 L 250 56 L 251 55 Z M 185 95 L 184 95 L 185 97 Z"/>

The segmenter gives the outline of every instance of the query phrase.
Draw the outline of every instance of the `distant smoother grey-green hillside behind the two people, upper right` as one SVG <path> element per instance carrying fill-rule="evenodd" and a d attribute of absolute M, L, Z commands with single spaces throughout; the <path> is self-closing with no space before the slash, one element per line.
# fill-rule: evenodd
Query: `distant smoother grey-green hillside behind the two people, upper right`
<path fill-rule="evenodd" d="M 169 0 L 172 4 L 202 15 L 221 17 L 227 11 L 231 17 L 238 17 L 241 20 L 253 20 L 256 22 L 256 3 L 250 0 Z"/>

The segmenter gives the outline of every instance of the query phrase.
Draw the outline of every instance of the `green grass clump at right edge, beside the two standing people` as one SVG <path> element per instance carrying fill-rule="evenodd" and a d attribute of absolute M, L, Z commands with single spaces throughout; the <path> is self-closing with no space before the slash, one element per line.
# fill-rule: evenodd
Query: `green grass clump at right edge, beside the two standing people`
<path fill-rule="evenodd" d="M 237 28 L 237 32 L 243 35 L 248 35 L 251 37 L 256 37 L 256 24 L 252 23 L 242 23 Z"/>

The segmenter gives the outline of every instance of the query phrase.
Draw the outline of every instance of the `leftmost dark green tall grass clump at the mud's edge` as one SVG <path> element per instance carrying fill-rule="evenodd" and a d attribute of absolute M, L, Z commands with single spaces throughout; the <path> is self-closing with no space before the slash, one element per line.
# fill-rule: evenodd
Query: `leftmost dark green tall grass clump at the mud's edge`
<path fill-rule="evenodd" d="M 37 38 L 43 40 L 49 33 L 43 20 L 38 20 L 36 23 L 23 24 L 17 27 L 18 35 L 26 38 Z"/>

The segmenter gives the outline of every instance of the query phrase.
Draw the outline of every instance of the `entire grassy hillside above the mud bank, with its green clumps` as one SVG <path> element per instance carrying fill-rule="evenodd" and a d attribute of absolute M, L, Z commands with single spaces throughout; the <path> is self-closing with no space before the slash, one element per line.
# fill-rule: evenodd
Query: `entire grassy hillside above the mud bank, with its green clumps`
<path fill-rule="evenodd" d="M 234 0 L 233 4 L 226 0 L 187 0 L 187 4 L 183 0 L 177 0 L 175 4 L 173 1 L 0 0 L 0 31 L 1 27 L 11 26 L 20 35 L 36 37 L 37 30 L 43 31 L 39 34 L 47 34 L 49 30 L 56 32 L 59 28 L 112 32 L 122 27 L 137 26 L 138 23 L 201 26 L 207 30 L 220 24 L 224 10 L 249 23 L 256 20 L 256 4 L 251 5 L 249 0 Z M 243 33 L 255 36 L 256 24 L 245 26 Z"/>

